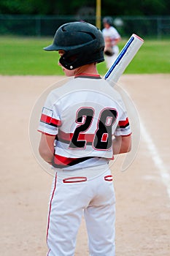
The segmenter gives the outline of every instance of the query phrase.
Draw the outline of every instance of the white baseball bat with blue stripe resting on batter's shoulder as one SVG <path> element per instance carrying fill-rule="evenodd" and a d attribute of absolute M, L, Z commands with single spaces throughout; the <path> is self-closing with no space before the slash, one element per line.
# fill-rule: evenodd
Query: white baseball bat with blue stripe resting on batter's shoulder
<path fill-rule="evenodd" d="M 126 42 L 125 46 L 120 51 L 117 59 L 104 75 L 104 79 L 111 83 L 112 86 L 117 83 L 117 80 L 119 80 L 125 68 L 128 67 L 128 64 L 134 58 L 143 42 L 144 40 L 136 34 L 132 34 L 128 39 L 128 42 Z"/>

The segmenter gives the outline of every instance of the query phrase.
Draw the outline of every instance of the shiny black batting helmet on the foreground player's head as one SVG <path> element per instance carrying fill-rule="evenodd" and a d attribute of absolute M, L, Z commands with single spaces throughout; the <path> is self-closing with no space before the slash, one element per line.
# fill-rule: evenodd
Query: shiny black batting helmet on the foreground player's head
<path fill-rule="evenodd" d="M 44 50 L 64 50 L 59 60 L 66 69 L 104 61 L 104 37 L 96 26 L 83 21 L 66 23 L 55 33 L 53 44 Z"/>

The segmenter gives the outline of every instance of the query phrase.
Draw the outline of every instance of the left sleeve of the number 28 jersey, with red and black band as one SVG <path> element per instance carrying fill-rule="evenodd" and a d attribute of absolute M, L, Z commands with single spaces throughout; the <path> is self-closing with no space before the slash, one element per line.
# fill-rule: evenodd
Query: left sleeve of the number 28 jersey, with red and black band
<path fill-rule="evenodd" d="M 58 127 L 61 127 L 61 115 L 58 102 L 52 92 L 42 108 L 38 131 L 47 135 L 57 135 Z"/>

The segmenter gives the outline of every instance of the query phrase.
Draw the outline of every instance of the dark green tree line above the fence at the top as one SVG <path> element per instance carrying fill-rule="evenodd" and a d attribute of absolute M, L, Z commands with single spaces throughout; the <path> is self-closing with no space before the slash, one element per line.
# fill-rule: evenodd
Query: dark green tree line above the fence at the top
<path fill-rule="evenodd" d="M 101 0 L 104 15 L 169 15 L 169 0 Z M 96 0 L 1 0 L 6 15 L 95 15 Z"/>

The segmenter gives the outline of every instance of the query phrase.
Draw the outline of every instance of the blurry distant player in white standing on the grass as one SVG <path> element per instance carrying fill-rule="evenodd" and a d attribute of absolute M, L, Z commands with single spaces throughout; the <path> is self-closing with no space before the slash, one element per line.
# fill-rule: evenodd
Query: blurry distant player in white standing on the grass
<path fill-rule="evenodd" d="M 111 67 L 119 54 L 119 48 L 117 43 L 120 42 L 120 34 L 113 27 L 113 20 L 111 17 L 105 17 L 103 19 L 104 29 L 102 30 L 105 41 L 105 60 L 107 67 Z"/>

